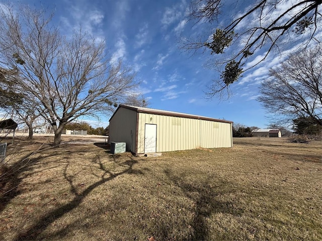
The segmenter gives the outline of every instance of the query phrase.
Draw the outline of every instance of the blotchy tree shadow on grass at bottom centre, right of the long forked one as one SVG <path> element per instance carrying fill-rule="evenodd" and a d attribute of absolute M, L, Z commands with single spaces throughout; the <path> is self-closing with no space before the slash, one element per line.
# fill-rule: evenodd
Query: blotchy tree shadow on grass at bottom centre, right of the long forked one
<path fill-rule="evenodd" d="M 209 240 L 209 218 L 212 214 L 229 213 L 240 216 L 244 212 L 243 209 L 237 208 L 232 201 L 221 200 L 220 196 L 229 194 L 233 190 L 229 189 L 231 184 L 220 177 L 213 177 L 215 181 L 210 185 L 207 180 L 212 177 L 194 182 L 169 169 L 165 170 L 165 174 L 196 205 L 195 216 L 191 223 L 194 231 L 189 237 L 183 239 Z"/>

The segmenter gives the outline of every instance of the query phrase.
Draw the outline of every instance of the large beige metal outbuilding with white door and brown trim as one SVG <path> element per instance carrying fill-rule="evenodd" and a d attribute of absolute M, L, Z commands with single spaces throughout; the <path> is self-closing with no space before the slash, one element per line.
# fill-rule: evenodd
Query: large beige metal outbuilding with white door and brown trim
<path fill-rule="evenodd" d="M 109 143 L 135 154 L 232 147 L 232 122 L 120 104 L 110 118 Z"/>

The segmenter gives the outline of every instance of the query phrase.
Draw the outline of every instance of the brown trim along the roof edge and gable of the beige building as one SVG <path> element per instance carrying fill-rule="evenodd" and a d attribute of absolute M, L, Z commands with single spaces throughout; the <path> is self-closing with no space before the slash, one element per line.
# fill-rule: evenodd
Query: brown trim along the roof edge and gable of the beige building
<path fill-rule="evenodd" d="M 140 108 L 140 107 L 134 107 L 134 106 L 128 106 L 124 104 L 120 104 L 119 107 L 115 110 L 116 111 L 120 108 L 126 108 L 131 109 L 140 113 L 150 113 L 150 114 L 160 114 L 160 115 L 167 115 L 167 116 L 174 116 L 174 117 L 184 117 L 184 118 L 191 118 L 191 119 L 202 119 L 204 121 L 212 121 L 212 122 L 222 122 L 222 123 L 233 123 L 231 121 L 225 121 L 224 119 L 215 119 L 205 116 L 199 116 L 199 115 L 191 115 L 191 114 L 185 114 L 185 113 L 178 113 L 178 112 L 170 112 L 170 111 L 163 111 L 158 109 L 149 109 L 149 108 Z M 110 118 L 110 120 L 113 118 L 114 114 Z"/>

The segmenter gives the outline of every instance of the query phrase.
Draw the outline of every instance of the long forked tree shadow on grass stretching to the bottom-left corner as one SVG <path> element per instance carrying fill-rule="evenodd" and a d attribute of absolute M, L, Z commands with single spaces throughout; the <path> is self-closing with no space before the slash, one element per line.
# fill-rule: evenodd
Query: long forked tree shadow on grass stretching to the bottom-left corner
<path fill-rule="evenodd" d="M 76 187 L 74 186 L 72 177 L 67 175 L 67 164 L 64 168 L 64 178 L 68 181 L 69 186 L 70 186 L 70 192 L 73 194 L 73 199 L 69 201 L 68 203 L 61 205 L 58 208 L 55 208 L 54 210 L 46 213 L 43 215 L 40 219 L 37 220 L 37 222 L 32 225 L 31 227 L 28 228 L 28 230 L 19 233 L 16 236 L 16 240 L 31 240 L 31 239 L 39 239 L 43 238 L 41 237 L 42 232 L 55 220 L 58 218 L 62 217 L 64 214 L 72 211 L 74 208 L 78 207 L 79 204 L 81 204 L 84 199 L 97 187 L 113 180 L 114 178 L 124 175 L 124 174 L 142 174 L 141 171 L 139 170 L 133 170 L 133 166 L 138 162 L 137 160 L 134 160 L 133 157 L 130 157 L 126 159 L 126 161 L 120 161 L 118 160 L 120 158 L 120 155 L 109 155 L 107 157 L 110 159 L 111 162 L 115 163 L 117 166 L 123 168 L 122 171 L 116 172 L 115 170 L 110 170 L 107 168 L 103 163 L 102 160 L 97 157 L 95 158 L 92 162 L 95 164 L 98 164 L 98 169 L 101 171 L 101 175 L 99 176 L 100 180 L 93 183 L 92 185 L 88 186 L 85 190 L 83 191 L 77 191 Z M 96 175 L 96 177 L 98 177 Z M 65 235 L 67 233 L 67 228 L 68 226 L 62 227 L 61 229 L 57 230 L 54 234 L 52 235 L 57 235 L 59 233 Z"/>

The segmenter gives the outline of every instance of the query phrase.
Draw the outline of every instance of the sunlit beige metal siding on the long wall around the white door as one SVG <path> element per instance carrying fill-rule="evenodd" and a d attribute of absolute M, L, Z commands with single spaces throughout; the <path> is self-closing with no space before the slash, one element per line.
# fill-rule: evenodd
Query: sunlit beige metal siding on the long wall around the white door
<path fill-rule="evenodd" d="M 144 153 L 145 124 L 156 125 L 156 152 L 232 147 L 231 123 L 139 113 L 137 153 Z"/>

